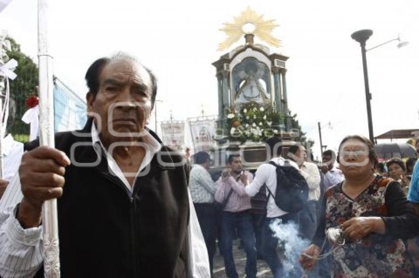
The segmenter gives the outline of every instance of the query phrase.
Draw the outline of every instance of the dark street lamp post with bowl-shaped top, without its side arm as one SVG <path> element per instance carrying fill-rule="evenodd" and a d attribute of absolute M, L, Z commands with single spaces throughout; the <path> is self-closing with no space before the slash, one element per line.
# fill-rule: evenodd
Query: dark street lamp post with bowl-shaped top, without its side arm
<path fill-rule="evenodd" d="M 374 142 L 374 131 L 373 131 L 373 119 L 371 116 L 371 94 L 370 94 L 370 85 L 368 83 L 368 69 L 367 69 L 367 57 L 366 57 L 366 49 L 365 49 L 365 42 L 367 39 L 373 35 L 372 30 L 360 30 L 356 31 L 351 35 L 351 37 L 359 42 L 361 45 L 361 54 L 362 54 L 362 66 L 364 69 L 364 85 L 365 85 L 365 101 L 367 103 L 367 117 L 368 117 L 368 132 L 371 142 Z"/>

